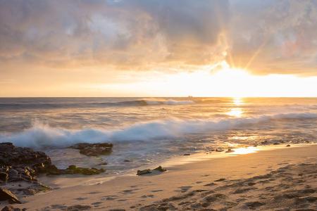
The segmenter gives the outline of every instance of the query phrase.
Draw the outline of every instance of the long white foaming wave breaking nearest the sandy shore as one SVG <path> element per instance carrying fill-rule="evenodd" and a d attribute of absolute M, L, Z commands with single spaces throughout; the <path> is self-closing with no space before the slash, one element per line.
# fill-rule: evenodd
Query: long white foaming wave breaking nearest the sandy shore
<path fill-rule="evenodd" d="M 140 122 L 129 127 L 113 130 L 94 128 L 71 130 L 50 127 L 48 124 L 35 122 L 32 127 L 22 132 L 0 134 L 0 142 L 9 141 L 16 146 L 31 148 L 63 148 L 80 142 L 158 141 L 159 139 L 176 138 L 185 134 L 235 129 L 248 124 L 257 124 L 271 120 L 316 118 L 316 113 L 285 113 L 271 116 L 263 115 L 259 117 L 223 119 L 218 121 L 170 118 L 167 120 Z"/>

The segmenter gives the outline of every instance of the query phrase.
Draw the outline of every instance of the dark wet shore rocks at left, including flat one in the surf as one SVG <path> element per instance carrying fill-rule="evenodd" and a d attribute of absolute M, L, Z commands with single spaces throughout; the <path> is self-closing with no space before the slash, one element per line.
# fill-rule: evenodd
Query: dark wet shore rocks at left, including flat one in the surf
<path fill-rule="evenodd" d="M 73 148 L 80 149 L 85 155 L 111 153 L 111 143 L 80 143 Z M 0 201 L 21 203 L 23 196 L 35 195 L 51 188 L 37 180 L 40 174 L 83 174 L 93 175 L 105 172 L 104 169 L 84 168 L 70 165 L 66 169 L 58 169 L 51 163 L 46 153 L 33 151 L 31 148 L 13 146 L 13 143 L 0 143 Z"/>

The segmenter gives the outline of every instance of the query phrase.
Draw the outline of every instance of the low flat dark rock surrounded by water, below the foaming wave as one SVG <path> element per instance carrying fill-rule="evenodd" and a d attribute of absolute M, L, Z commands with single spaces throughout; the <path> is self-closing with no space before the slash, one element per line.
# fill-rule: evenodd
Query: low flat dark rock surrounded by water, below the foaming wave
<path fill-rule="evenodd" d="M 75 148 L 87 156 L 108 155 L 112 152 L 112 143 L 77 143 L 70 148 Z"/>

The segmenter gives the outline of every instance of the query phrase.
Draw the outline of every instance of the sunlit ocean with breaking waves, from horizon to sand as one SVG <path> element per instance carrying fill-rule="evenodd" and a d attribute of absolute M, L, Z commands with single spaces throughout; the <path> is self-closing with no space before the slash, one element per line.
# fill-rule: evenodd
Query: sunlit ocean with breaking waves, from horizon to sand
<path fill-rule="evenodd" d="M 0 98 L 0 142 L 108 175 L 215 148 L 316 143 L 316 126 L 317 98 Z M 113 143 L 113 153 L 67 148 L 81 142 Z"/>

